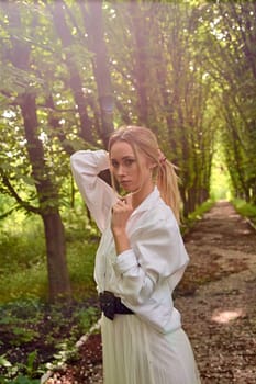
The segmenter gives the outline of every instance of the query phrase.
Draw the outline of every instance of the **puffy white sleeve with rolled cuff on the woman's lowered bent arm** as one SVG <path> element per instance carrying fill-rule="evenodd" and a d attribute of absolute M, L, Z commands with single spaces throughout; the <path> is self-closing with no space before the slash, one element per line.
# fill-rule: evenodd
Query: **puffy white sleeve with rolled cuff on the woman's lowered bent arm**
<path fill-rule="evenodd" d="M 121 297 L 130 306 L 145 303 L 157 286 L 168 282 L 170 291 L 180 281 L 189 261 L 179 228 L 166 221 L 136 234 L 131 249 L 114 263 Z"/>

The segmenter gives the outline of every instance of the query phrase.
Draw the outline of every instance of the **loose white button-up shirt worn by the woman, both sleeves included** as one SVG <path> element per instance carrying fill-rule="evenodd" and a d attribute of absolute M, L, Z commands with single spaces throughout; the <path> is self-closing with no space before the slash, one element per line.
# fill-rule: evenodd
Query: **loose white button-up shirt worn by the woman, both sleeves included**
<path fill-rule="evenodd" d="M 98 291 L 113 292 L 141 319 L 160 332 L 170 332 L 181 327 L 171 294 L 189 261 L 179 226 L 155 187 L 129 218 L 131 249 L 116 255 L 110 221 L 118 196 L 98 177 L 108 168 L 104 150 L 80 150 L 71 156 L 76 183 L 102 233 L 94 267 Z"/>

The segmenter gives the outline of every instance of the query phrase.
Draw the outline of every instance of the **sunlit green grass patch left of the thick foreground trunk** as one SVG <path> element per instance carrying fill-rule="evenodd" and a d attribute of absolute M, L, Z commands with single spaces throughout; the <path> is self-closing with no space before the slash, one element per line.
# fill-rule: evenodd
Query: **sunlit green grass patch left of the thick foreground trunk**
<path fill-rule="evenodd" d="M 47 295 L 44 233 L 40 217 L 12 213 L 0 223 L 0 302 Z"/>

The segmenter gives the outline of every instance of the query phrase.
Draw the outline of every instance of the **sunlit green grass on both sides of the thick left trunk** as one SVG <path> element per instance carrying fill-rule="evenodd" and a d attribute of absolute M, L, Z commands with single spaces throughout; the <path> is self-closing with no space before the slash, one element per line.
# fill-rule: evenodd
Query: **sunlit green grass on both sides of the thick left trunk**
<path fill-rule="evenodd" d="M 71 287 L 74 297 L 80 300 L 96 293 L 93 264 L 98 234 L 79 215 L 75 225 L 75 213 L 64 219 L 69 223 L 66 246 Z M 0 230 L 0 303 L 31 297 L 45 301 L 48 287 L 41 218 L 18 212 L 2 221 Z"/>

